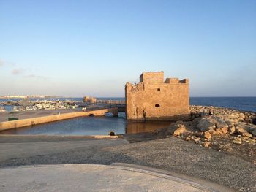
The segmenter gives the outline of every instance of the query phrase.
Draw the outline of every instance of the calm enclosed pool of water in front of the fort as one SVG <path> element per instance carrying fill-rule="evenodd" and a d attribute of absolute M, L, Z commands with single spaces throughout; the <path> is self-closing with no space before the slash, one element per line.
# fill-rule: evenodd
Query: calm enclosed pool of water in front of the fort
<path fill-rule="evenodd" d="M 131 122 L 125 120 L 124 112 L 119 112 L 118 118 L 112 114 L 105 117 L 84 117 L 69 120 L 60 120 L 52 123 L 44 123 L 37 126 L 13 128 L 1 131 L 0 134 L 28 134 L 28 135 L 97 135 L 108 134 L 108 131 L 116 131 L 116 134 L 138 134 L 140 132 L 154 131 L 165 128 L 168 122 Z"/>

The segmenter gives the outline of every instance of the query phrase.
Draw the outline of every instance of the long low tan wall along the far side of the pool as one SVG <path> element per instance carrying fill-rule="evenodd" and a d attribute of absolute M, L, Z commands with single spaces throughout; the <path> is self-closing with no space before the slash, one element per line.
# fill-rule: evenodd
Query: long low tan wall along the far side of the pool
<path fill-rule="evenodd" d="M 11 128 L 20 128 L 24 126 L 35 126 L 41 123 L 49 123 L 57 120 L 65 120 L 70 118 L 78 118 L 78 117 L 86 117 L 89 115 L 94 116 L 103 116 L 106 112 L 118 112 L 118 108 L 110 108 L 104 110 L 94 110 L 89 112 L 69 112 L 63 113 L 59 115 L 48 115 L 39 118 L 28 118 L 28 119 L 21 119 L 21 120 L 12 120 L 12 121 L 5 121 L 0 123 L 0 131 L 4 131 Z"/>

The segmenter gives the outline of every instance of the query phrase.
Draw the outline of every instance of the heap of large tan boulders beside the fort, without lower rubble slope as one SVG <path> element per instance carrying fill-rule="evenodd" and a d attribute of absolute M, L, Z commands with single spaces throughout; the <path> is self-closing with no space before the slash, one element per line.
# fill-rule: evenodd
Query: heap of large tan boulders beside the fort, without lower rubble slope
<path fill-rule="evenodd" d="M 203 110 L 213 112 L 206 115 Z M 194 141 L 203 147 L 210 147 L 212 137 L 221 137 L 229 134 L 232 143 L 243 142 L 256 144 L 256 125 L 253 124 L 256 114 L 253 112 L 240 112 L 220 107 L 191 106 L 191 122 L 178 121 L 172 123 L 173 136 L 181 137 L 187 141 Z"/>

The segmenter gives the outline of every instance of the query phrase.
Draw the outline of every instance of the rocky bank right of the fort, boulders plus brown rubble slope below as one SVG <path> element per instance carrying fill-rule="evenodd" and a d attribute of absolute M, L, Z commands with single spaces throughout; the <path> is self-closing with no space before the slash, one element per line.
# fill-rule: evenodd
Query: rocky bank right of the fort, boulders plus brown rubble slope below
<path fill-rule="evenodd" d="M 204 110 L 206 109 L 206 114 Z M 221 107 L 191 106 L 191 121 L 171 123 L 175 137 L 238 155 L 256 164 L 256 114 Z M 208 115 L 208 111 L 213 112 Z M 165 130 L 166 131 L 166 130 Z"/>

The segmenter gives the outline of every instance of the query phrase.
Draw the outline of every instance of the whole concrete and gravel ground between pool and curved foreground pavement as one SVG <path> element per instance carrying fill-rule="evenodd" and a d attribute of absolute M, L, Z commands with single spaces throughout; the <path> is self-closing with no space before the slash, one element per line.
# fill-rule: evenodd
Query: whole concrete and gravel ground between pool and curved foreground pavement
<path fill-rule="evenodd" d="M 176 137 L 128 144 L 125 139 L 1 136 L 0 151 L 1 168 L 121 162 L 200 177 L 239 191 L 256 191 L 255 164 Z"/>

